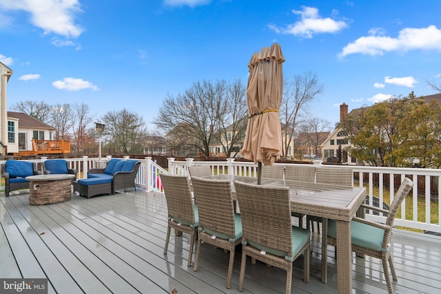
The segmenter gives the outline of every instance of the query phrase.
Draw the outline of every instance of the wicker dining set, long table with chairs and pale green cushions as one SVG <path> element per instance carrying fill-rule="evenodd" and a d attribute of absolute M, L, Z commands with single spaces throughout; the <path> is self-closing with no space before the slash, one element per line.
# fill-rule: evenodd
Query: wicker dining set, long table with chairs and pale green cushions
<path fill-rule="evenodd" d="M 226 284 L 229 288 L 235 248 L 242 244 L 238 290 L 243 288 L 247 256 L 250 256 L 252 263 L 260 260 L 285 269 L 286 292 L 291 293 L 292 262 L 300 255 L 304 257 L 303 280 L 309 282 L 311 226 L 303 229 L 292 225 L 291 213 L 299 213 L 301 218 L 306 215 L 308 222 L 322 222 L 322 282 L 327 282 L 327 245 L 331 244 L 336 246 L 338 255 L 339 293 L 351 292 L 351 251 L 380 258 L 388 291 L 393 293 L 388 271 L 389 262 L 393 280 L 396 280 L 389 254 L 391 231 L 400 203 L 413 187 L 413 182 L 404 178 L 391 209 L 386 211 L 362 204 L 365 202 L 366 189 L 353 187 L 351 171 L 343 176 L 337 170 L 341 171 L 305 167 L 282 172 L 278 166 L 264 167 L 262 178 L 265 180 L 262 185 L 256 185 L 255 179 L 249 177 L 212 176 L 207 169 L 205 178 L 195 177 L 194 174 L 203 174 L 192 167 L 189 168 L 191 178 L 161 174 L 169 216 L 164 254 L 167 254 L 170 242 L 170 229 L 185 232 L 183 228 L 186 227 L 192 235 L 188 266 L 191 265 L 194 240 L 198 239 L 194 271 L 198 269 L 201 242 L 230 251 Z M 314 180 L 306 176 L 311 171 L 314 171 Z M 302 181 L 297 181 L 294 174 Z M 284 178 L 280 178 L 280 175 Z M 234 200 L 238 200 L 240 214 L 234 211 Z M 365 209 L 376 209 L 387 214 L 387 222 L 368 222 L 362 218 Z"/>

